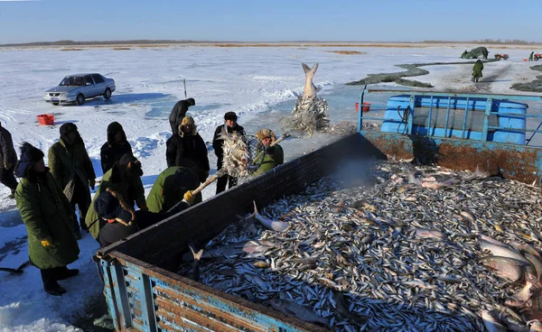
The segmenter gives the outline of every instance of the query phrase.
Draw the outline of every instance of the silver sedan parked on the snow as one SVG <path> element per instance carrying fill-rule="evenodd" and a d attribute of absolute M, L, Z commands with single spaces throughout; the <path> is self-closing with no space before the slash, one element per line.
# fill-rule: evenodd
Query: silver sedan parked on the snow
<path fill-rule="evenodd" d="M 85 104 L 85 99 L 103 96 L 111 97 L 115 91 L 115 80 L 97 73 L 69 75 L 62 79 L 58 87 L 45 91 L 43 98 L 52 105 L 64 103 Z"/>

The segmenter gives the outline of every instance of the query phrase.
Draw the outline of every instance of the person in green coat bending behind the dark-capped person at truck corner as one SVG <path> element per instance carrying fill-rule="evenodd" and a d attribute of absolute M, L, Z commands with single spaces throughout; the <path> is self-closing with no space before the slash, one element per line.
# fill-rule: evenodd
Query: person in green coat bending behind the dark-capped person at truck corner
<path fill-rule="evenodd" d="M 141 163 L 132 154 L 128 153 L 122 156 L 120 161 L 115 162 L 111 170 L 104 174 L 90 203 L 89 212 L 85 217 L 89 232 L 97 241 L 99 230 L 105 225 L 105 221 L 98 217 L 98 213 L 94 208 L 94 200 L 106 189 L 111 189 L 121 195 L 130 208 L 134 208 L 136 204 L 138 208 L 147 210 L 145 189 L 143 188 L 143 182 L 141 182 L 142 175 Z"/>

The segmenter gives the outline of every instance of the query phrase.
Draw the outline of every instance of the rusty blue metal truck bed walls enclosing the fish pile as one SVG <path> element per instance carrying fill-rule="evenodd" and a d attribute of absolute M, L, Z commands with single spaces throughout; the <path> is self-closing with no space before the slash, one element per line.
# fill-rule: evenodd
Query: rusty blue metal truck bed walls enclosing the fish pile
<path fill-rule="evenodd" d="M 303 191 L 347 160 L 416 157 L 455 170 L 532 182 L 541 174 L 539 149 L 525 145 L 361 132 L 268 171 L 98 251 L 107 305 L 118 330 L 323 331 L 257 303 L 231 296 L 176 271 L 189 240 L 205 244 L 237 215 Z"/>

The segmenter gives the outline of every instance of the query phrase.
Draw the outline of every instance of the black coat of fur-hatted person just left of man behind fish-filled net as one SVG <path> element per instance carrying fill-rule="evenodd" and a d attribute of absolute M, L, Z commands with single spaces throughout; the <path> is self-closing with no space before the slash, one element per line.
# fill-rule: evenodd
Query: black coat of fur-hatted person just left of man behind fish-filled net
<path fill-rule="evenodd" d="M 201 182 L 206 180 L 210 170 L 209 158 L 207 147 L 200 134 L 185 134 L 182 137 L 173 134 L 165 145 L 167 167 L 188 167 L 198 174 Z"/>

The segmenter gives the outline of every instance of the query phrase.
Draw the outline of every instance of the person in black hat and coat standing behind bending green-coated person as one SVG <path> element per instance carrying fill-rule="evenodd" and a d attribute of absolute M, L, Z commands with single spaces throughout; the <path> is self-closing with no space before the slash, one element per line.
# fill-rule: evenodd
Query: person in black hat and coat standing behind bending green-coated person
<path fill-rule="evenodd" d="M 107 125 L 107 142 L 102 145 L 100 152 L 103 174 L 111 170 L 113 164 L 120 161 L 120 158 L 126 153 L 134 155 L 132 146 L 126 141 L 122 125 L 112 122 Z"/>

